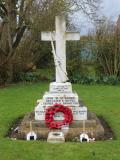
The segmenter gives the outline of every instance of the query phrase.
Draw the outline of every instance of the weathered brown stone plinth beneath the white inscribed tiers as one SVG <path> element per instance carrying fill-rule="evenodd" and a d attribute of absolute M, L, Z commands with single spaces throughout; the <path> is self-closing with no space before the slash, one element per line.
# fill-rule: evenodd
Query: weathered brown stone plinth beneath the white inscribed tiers
<path fill-rule="evenodd" d="M 84 125 L 83 125 L 84 122 Z M 62 130 L 50 130 L 46 127 L 45 121 L 36 121 L 34 119 L 34 113 L 27 114 L 20 126 L 18 132 L 19 139 L 26 139 L 26 134 L 30 132 L 30 123 L 32 123 L 32 130 L 37 134 L 37 139 L 47 139 L 49 132 Z M 97 116 L 89 112 L 89 119 L 85 121 L 73 121 L 69 126 L 69 129 L 64 132 L 65 140 L 72 141 L 75 137 L 80 136 L 80 134 L 87 133 L 90 138 L 95 138 L 96 140 L 102 139 L 104 137 L 104 128 L 101 125 Z"/>

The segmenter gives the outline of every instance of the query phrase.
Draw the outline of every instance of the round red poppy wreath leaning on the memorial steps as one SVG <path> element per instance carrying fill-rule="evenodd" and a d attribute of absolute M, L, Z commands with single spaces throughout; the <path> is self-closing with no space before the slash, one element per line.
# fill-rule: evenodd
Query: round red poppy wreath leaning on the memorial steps
<path fill-rule="evenodd" d="M 64 114 L 63 121 L 54 121 L 54 115 L 57 112 L 62 112 Z M 71 109 L 68 108 L 68 106 L 55 104 L 54 106 L 46 109 L 45 122 L 50 129 L 60 129 L 63 125 L 66 124 L 69 125 L 72 122 L 72 120 L 73 120 L 73 114 Z"/>

